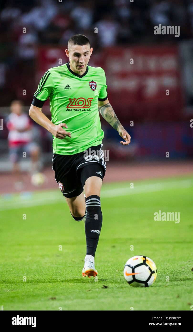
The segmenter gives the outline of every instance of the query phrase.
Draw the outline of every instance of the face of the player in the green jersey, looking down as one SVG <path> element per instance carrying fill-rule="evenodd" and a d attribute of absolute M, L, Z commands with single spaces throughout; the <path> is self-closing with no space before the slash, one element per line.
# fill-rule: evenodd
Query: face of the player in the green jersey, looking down
<path fill-rule="evenodd" d="M 82 75 L 87 69 L 93 47 L 90 45 L 71 45 L 70 51 L 66 49 L 66 55 L 70 60 L 70 68 L 75 73 Z"/>

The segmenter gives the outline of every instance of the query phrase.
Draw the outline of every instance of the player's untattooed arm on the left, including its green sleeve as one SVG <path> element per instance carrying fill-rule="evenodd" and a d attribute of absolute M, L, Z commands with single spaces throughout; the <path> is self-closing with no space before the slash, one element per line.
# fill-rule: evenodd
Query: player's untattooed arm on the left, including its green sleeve
<path fill-rule="evenodd" d="M 68 128 L 65 123 L 53 124 L 46 116 L 41 112 L 44 102 L 48 97 L 54 93 L 54 84 L 50 71 L 46 71 L 42 76 L 38 88 L 34 93 L 32 105 L 30 107 L 29 115 L 37 124 L 47 129 L 56 138 L 63 139 L 66 136 L 71 137 L 71 133 L 64 130 L 62 127 Z"/>

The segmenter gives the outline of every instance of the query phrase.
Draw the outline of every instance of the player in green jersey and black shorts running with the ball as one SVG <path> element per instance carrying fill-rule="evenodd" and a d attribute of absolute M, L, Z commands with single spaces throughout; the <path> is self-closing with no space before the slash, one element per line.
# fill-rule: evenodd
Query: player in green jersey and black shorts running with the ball
<path fill-rule="evenodd" d="M 36 123 L 52 133 L 55 179 L 72 217 L 85 221 L 87 251 L 83 277 L 97 276 L 94 257 L 102 226 L 100 189 L 106 163 L 101 150 L 104 133 L 98 110 L 125 140 L 121 144 L 128 145 L 131 138 L 109 104 L 104 70 L 87 65 L 92 51 L 86 36 L 71 37 L 66 49 L 69 62 L 46 71 L 29 111 Z M 41 112 L 48 97 L 51 121 Z"/>

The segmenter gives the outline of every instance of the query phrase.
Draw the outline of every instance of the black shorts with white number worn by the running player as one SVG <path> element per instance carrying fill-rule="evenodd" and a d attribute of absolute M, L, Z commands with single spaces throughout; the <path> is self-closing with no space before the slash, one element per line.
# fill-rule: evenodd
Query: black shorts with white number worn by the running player
<path fill-rule="evenodd" d="M 106 171 L 102 144 L 91 146 L 73 155 L 54 153 L 52 169 L 62 194 L 67 198 L 79 196 L 85 181 L 91 176 L 103 179 Z"/>

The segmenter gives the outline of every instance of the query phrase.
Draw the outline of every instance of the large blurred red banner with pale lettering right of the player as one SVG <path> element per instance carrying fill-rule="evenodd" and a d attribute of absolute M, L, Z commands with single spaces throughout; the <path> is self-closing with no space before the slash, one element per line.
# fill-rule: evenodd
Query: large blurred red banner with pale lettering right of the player
<path fill-rule="evenodd" d="M 105 50 L 103 58 L 109 100 L 120 118 L 125 121 L 181 118 L 177 46 L 113 47 Z"/>

